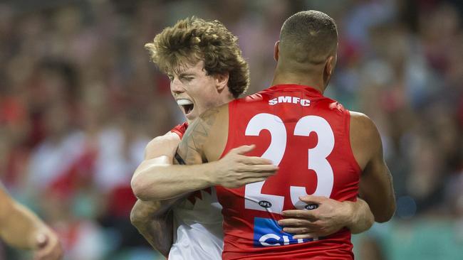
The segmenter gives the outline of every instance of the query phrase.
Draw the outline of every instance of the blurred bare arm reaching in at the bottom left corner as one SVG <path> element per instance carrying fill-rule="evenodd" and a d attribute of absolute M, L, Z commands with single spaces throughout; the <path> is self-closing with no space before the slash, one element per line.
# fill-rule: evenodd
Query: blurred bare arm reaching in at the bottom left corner
<path fill-rule="evenodd" d="M 36 259 L 61 259 L 58 237 L 0 185 L 0 238 L 11 247 L 36 250 Z"/>

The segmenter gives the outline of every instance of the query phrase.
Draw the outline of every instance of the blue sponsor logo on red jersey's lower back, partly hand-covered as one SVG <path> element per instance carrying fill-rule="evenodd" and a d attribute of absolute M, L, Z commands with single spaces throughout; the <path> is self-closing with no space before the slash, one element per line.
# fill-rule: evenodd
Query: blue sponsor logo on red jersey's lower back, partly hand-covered
<path fill-rule="evenodd" d="M 293 235 L 283 232 L 275 220 L 254 217 L 254 247 L 277 247 L 310 241 L 313 239 L 293 239 Z"/>

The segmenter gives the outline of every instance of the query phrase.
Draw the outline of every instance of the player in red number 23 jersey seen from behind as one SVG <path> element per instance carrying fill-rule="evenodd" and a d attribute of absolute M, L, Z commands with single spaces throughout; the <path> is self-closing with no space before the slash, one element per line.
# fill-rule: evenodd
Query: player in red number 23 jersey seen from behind
<path fill-rule="evenodd" d="M 275 44 L 272 87 L 209 109 L 184 134 L 178 153 L 187 164 L 217 161 L 231 148 L 253 143 L 249 155 L 279 166 L 263 181 L 217 186 L 223 259 L 353 259 L 348 229 L 304 238 L 281 230 L 301 217 L 306 217 L 301 223 L 313 224 L 307 195 L 338 201 L 360 195 L 378 222 L 395 212 L 392 178 L 375 124 L 323 96 L 337 48 L 331 17 L 319 11 L 294 14 Z"/>

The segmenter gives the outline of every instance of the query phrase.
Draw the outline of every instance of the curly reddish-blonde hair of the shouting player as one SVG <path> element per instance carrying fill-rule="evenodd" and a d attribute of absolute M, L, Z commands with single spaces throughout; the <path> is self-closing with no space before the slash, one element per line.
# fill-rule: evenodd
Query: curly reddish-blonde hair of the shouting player
<path fill-rule="evenodd" d="M 228 87 L 235 98 L 249 87 L 249 67 L 241 55 L 238 38 L 217 20 L 194 16 L 182 19 L 157 34 L 145 48 L 152 62 L 166 74 L 204 60 L 207 75 L 229 73 Z"/>

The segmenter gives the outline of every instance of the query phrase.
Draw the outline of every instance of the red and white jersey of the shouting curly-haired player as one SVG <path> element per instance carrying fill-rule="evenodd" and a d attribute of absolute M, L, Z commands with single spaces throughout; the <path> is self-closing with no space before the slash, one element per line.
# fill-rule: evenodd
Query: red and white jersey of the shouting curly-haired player
<path fill-rule="evenodd" d="M 171 131 L 182 138 L 187 123 Z M 172 207 L 173 244 L 169 260 L 221 259 L 223 249 L 222 207 L 215 188 L 198 190 Z"/>

